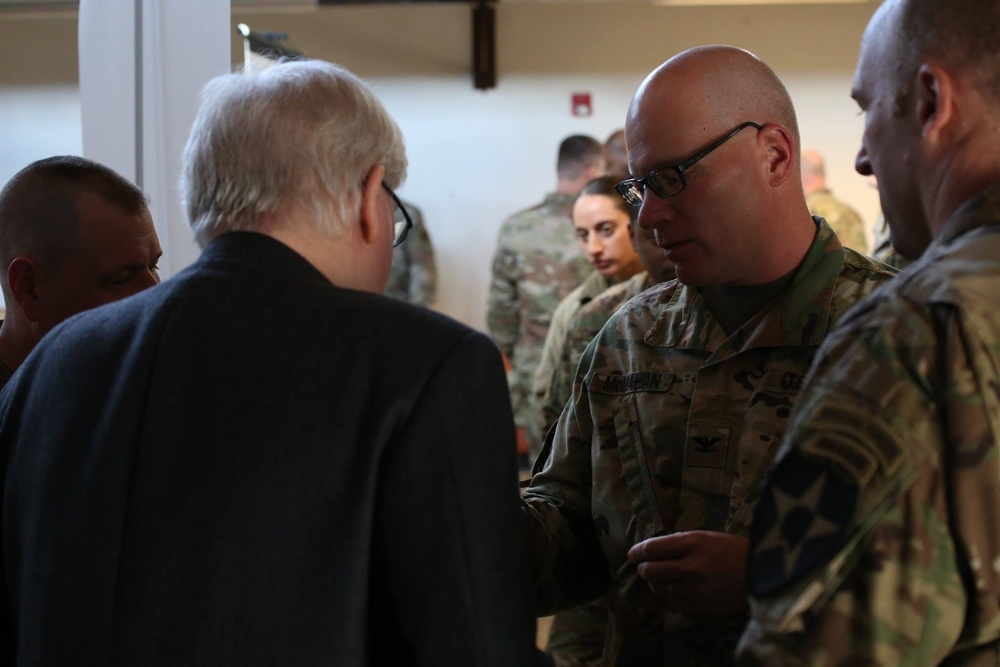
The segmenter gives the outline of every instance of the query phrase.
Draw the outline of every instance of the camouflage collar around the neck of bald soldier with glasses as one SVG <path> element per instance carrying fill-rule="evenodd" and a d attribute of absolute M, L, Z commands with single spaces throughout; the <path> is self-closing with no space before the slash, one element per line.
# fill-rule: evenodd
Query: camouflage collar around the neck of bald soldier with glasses
<path fill-rule="evenodd" d="M 817 346 L 830 323 L 830 303 L 844 262 L 844 248 L 825 221 L 788 289 L 731 336 L 712 317 L 698 290 L 678 284 L 645 340 L 656 347 L 702 350 L 721 361 L 743 350 Z"/>

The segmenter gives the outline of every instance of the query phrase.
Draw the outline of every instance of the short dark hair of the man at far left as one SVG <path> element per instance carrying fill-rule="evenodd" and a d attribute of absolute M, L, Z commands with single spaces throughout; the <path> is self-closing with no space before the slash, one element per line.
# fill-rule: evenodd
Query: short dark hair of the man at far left
<path fill-rule="evenodd" d="M 84 192 L 144 215 L 149 202 L 142 190 L 102 164 L 75 155 L 32 162 L 0 190 L 0 285 L 7 289 L 7 267 L 18 256 L 58 262 L 79 244 L 77 201 Z"/>

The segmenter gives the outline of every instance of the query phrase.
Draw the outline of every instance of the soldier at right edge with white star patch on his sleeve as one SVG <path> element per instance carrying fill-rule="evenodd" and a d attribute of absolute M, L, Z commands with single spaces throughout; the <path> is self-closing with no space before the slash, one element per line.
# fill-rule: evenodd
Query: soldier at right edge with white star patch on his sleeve
<path fill-rule="evenodd" d="M 743 664 L 1000 664 L 997 35 L 996 0 L 889 0 L 865 32 L 856 164 L 919 259 L 807 378 L 753 528 Z"/>

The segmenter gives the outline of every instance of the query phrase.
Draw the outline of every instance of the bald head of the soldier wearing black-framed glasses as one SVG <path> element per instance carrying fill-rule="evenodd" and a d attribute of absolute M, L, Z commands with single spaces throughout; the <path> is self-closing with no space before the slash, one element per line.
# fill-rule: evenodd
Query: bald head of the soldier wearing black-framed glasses
<path fill-rule="evenodd" d="M 634 176 L 681 172 L 673 196 L 646 190 L 639 222 L 656 231 L 682 282 L 762 284 L 801 261 L 815 226 L 798 123 L 788 91 L 759 58 L 730 46 L 671 58 L 636 92 L 625 135 Z"/>

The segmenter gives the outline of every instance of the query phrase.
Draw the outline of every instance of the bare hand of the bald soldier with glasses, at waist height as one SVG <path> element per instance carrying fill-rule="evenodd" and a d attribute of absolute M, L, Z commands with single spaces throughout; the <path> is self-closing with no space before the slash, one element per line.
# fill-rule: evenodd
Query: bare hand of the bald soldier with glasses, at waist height
<path fill-rule="evenodd" d="M 748 547 L 739 535 L 693 530 L 639 542 L 628 559 L 668 609 L 736 614 L 747 607 Z"/>

